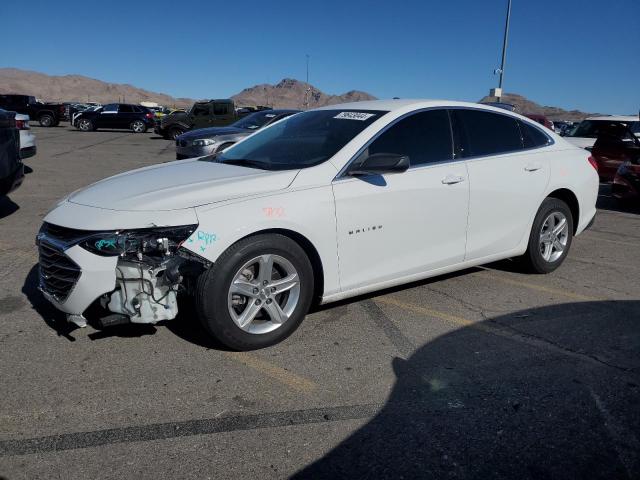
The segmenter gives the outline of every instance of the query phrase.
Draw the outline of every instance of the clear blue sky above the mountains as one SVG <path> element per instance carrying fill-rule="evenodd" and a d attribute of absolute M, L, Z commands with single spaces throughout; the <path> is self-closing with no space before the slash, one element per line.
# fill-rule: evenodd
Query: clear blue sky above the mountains
<path fill-rule="evenodd" d="M 477 101 L 498 83 L 506 5 L 4 1 L 2 32 L 13 40 L 0 49 L 0 67 L 220 98 L 305 80 L 309 55 L 309 81 L 326 93 Z M 637 113 L 639 49 L 640 0 L 513 0 L 504 91 L 567 109 Z"/>

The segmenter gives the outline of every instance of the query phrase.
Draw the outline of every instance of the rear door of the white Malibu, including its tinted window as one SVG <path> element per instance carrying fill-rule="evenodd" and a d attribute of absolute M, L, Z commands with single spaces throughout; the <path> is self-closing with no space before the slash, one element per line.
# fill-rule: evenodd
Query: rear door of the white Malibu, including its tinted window
<path fill-rule="evenodd" d="M 466 260 L 516 248 L 549 181 L 551 142 L 542 126 L 507 114 L 453 109 L 458 150 L 469 171 Z"/>

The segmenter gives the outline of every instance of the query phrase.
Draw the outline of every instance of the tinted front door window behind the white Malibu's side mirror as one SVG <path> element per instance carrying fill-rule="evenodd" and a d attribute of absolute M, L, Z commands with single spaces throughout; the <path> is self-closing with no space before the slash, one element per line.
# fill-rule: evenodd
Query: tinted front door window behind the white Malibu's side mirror
<path fill-rule="evenodd" d="M 451 160 L 453 146 L 447 111 L 427 110 L 400 120 L 369 145 L 367 154 L 375 153 L 406 155 L 411 166 Z"/>

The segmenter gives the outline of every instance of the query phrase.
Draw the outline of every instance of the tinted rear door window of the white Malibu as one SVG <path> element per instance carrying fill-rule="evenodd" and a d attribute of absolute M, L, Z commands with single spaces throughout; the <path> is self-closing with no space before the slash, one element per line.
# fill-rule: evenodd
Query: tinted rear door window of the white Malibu
<path fill-rule="evenodd" d="M 515 118 L 482 110 L 452 110 L 460 129 L 462 156 L 497 155 L 522 150 Z"/>

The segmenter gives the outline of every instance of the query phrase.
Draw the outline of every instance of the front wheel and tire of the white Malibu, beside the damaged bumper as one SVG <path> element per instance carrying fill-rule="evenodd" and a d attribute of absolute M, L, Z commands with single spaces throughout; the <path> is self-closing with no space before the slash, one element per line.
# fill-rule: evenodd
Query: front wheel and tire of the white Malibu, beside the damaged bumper
<path fill-rule="evenodd" d="M 263 273 L 269 258 L 272 268 Z M 313 269 L 304 250 L 284 235 L 264 234 L 232 245 L 200 275 L 195 304 L 202 325 L 216 339 L 234 350 L 255 350 L 291 335 L 312 298 Z"/>

